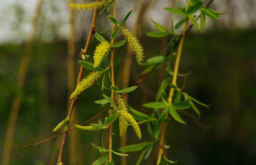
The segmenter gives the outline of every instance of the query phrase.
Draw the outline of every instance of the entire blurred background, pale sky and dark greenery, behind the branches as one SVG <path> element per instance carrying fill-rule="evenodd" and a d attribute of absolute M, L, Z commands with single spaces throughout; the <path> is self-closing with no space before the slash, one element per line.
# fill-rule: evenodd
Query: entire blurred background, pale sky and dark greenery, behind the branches
<path fill-rule="evenodd" d="M 152 2 L 151 2 L 152 1 Z M 69 39 L 69 8 L 67 0 L 44 0 L 35 30 L 34 45 L 24 88 L 17 88 L 16 81 L 24 47 L 33 26 L 32 17 L 39 0 L 1 0 L 0 2 L 0 159 L 7 131 L 8 119 L 13 98 L 17 91 L 21 94 L 21 104 L 13 139 L 13 146 L 26 145 L 54 135 L 53 128 L 67 115 L 67 41 Z M 89 2 L 88 0 L 78 2 Z M 117 18 L 122 18 L 136 9 L 136 0 L 118 0 Z M 140 18 L 139 39 L 145 49 L 145 58 L 162 55 L 165 42 L 171 37 L 150 38 L 147 31 L 156 31 L 150 18 L 162 25 L 171 27 L 179 17 L 170 15 L 163 7 L 182 7 L 185 0 L 144 0 L 145 5 L 152 3 L 145 16 Z M 204 0 L 207 4 L 209 0 Z M 187 77 L 184 92 L 211 105 L 207 110 L 199 107 L 201 118 L 195 119 L 192 109 L 180 114 L 187 125 L 174 120 L 168 124 L 166 144 L 170 145 L 168 156 L 178 160 L 177 165 L 253 165 L 256 164 L 256 1 L 255 0 L 215 0 L 211 9 L 227 11 L 219 20 L 206 20 L 206 30 L 199 33 L 192 29 L 187 35 L 182 51 L 180 73 L 191 71 Z M 144 10 L 144 9 L 143 9 Z M 78 74 L 78 54 L 84 48 L 93 12 L 75 12 L 75 71 Z M 106 11 L 97 16 L 96 31 L 111 29 Z M 126 26 L 134 28 L 136 10 Z M 108 34 L 104 34 L 108 37 Z M 121 40 L 118 35 L 117 40 Z M 93 36 L 88 55 L 98 41 Z M 115 50 L 116 84 L 121 86 L 122 66 L 126 56 L 126 46 Z M 92 58 L 89 61 L 93 61 Z M 143 66 L 132 63 L 130 86 L 143 70 Z M 84 76 L 89 73 L 85 71 Z M 143 84 L 129 95 L 129 104 L 136 110 L 151 114 L 152 109 L 141 106 L 154 101 L 163 74 L 155 71 Z M 76 79 L 76 78 L 75 78 Z M 181 86 L 184 79 L 179 78 Z M 107 85 L 110 83 L 108 82 Z M 74 110 L 77 123 L 94 116 L 103 108 L 94 101 L 102 99 L 100 86 L 95 84 L 83 92 Z M 20 92 L 21 91 L 21 92 Z M 187 115 L 184 115 L 186 114 Z M 98 119 L 104 121 L 104 116 Z M 97 120 L 92 121 L 97 122 Z M 113 126 L 113 148 L 119 148 L 118 125 Z M 150 141 L 147 125 L 141 125 L 142 141 Z M 100 157 L 91 143 L 100 144 L 102 132 L 73 131 L 75 150 L 67 141 L 63 162 L 70 164 L 76 159 L 78 165 L 92 164 Z M 61 136 L 62 138 L 62 136 Z M 68 137 L 70 138 L 70 137 Z M 108 138 L 106 137 L 106 140 Z M 139 143 L 134 131 L 128 129 L 128 145 Z M 107 141 L 106 141 L 107 143 Z M 60 139 L 34 147 L 11 151 L 11 165 L 55 164 L 58 158 Z M 154 148 L 157 150 L 157 148 Z M 129 153 L 128 165 L 134 165 L 140 152 Z M 71 156 L 70 156 L 71 155 Z M 143 165 L 155 164 L 157 152 L 152 152 Z M 120 157 L 114 156 L 115 164 Z"/>

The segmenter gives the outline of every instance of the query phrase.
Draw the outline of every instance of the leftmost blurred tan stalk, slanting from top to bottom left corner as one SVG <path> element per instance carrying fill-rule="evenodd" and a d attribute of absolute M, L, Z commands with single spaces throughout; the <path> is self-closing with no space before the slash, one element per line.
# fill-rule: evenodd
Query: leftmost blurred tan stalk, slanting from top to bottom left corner
<path fill-rule="evenodd" d="M 37 26 L 38 17 L 39 17 L 39 14 L 41 12 L 41 8 L 43 5 L 43 1 L 44 0 L 39 0 L 37 7 L 35 9 L 35 15 L 33 16 L 33 19 L 32 19 L 32 31 L 29 35 L 28 41 L 26 42 L 23 56 L 21 59 L 19 75 L 18 75 L 18 79 L 17 79 L 17 83 L 16 83 L 17 88 L 19 88 L 19 92 L 18 92 L 18 94 L 15 95 L 15 97 L 13 98 L 13 102 L 12 102 L 10 117 L 9 117 L 8 126 L 7 126 L 6 138 L 4 141 L 2 165 L 9 165 L 9 161 L 11 158 L 11 148 L 10 147 L 12 146 L 12 143 L 13 143 L 13 137 L 14 137 L 15 127 L 16 127 L 16 123 L 17 123 L 17 117 L 19 114 L 20 101 L 21 101 L 20 90 L 22 91 L 22 88 L 23 88 L 25 80 L 26 80 L 26 75 L 28 72 L 28 65 L 30 63 L 31 51 L 32 51 L 33 44 L 34 44 L 35 30 L 36 30 L 36 26 Z"/>

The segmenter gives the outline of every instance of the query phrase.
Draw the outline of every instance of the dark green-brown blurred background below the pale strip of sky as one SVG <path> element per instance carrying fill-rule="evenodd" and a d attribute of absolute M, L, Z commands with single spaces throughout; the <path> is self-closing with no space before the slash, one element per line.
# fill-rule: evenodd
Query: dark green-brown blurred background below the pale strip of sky
<path fill-rule="evenodd" d="M 97 24 L 100 24 L 100 20 Z M 178 160 L 177 165 L 253 165 L 256 164 L 256 29 L 254 26 L 226 29 L 217 23 L 214 25 L 216 28 L 213 26 L 206 33 L 192 31 L 187 35 L 179 70 L 180 73 L 192 72 L 187 77 L 183 91 L 211 106 L 209 110 L 198 106 L 201 112 L 201 125 L 183 114 L 180 115 L 187 125 L 171 119 L 166 133 L 166 144 L 171 146 L 168 156 L 172 160 Z M 151 27 L 147 28 L 147 31 L 154 31 Z M 103 27 L 100 27 L 97 31 L 102 29 Z M 145 32 L 140 39 L 145 49 L 145 58 L 160 55 L 160 39 L 147 37 Z M 82 39 L 76 40 L 77 55 L 84 47 L 84 38 L 87 37 L 87 32 L 83 33 L 83 37 L 80 37 Z M 24 43 L 23 41 L 0 44 L 0 155 L 11 102 L 17 91 L 15 83 Z M 93 55 L 97 44 L 98 41 L 93 36 L 88 55 Z M 122 68 L 125 53 L 125 46 L 115 50 L 117 86 L 121 84 L 122 69 L 119 68 Z M 14 146 L 33 143 L 54 135 L 52 130 L 67 115 L 67 41 L 58 37 L 51 42 L 37 40 L 31 58 Z M 76 56 L 75 61 L 77 60 Z M 90 58 L 89 61 L 92 62 L 93 59 Z M 79 67 L 76 62 L 76 74 Z M 132 75 L 135 76 L 132 76 L 130 86 L 136 82 L 133 77 L 136 77 L 143 68 L 133 62 Z M 84 77 L 87 73 L 89 72 L 85 70 Z M 146 114 L 152 113 L 152 109 L 141 105 L 155 100 L 154 95 L 159 88 L 158 76 L 158 71 L 153 72 L 144 81 L 145 88 L 138 88 L 129 95 L 129 104 L 133 108 Z M 183 77 L 178 77 L 178 85 L 182 86 L 183 81 Z M 109 85 L 110 82 L 106 86 Z M 95 84 L 80 95 L 75 108 L 78 111 L 79 123 L 103 109 L 94 103 L 98 99 L 103 99 L 100 89 L 101 87 Z M 148 89 L 149 95 L 145 94 L 145 90 Z M 191 108 L 186 111 L 194 114 Z M 104 121 L 106 114 L 98 119 Z M 97 120 L 93 122 L 96 123 Z M 142 141 L 150 141 L 147 125 L 142 124 L 140 127 Z M 80 164 L 91 164 L 101 155 L 91 146 L 91 143 L 101 143 L 101 132 L 74 131 L 79 132 L 80 136 L 80 150 L 77 153 L 83 159 Z M 117 150 L 120 143 L 117 122 L 113 124 L 113 132 L 113 149 Z M 128 128 L 128 145 L 139 142 L 132 128 Z M 64 162 L 68 162 L 69 159 L 68 145 L 67 142 Z M 154 149 L 150 158 L 141 164 L 154 164 L 157 156 Z M 12 150 L 11 164 L 46 165 L 58 151 L 59 143 L 56 143 L 56 139 L 35 147 Z M 135 164 L 139 153 L 129 153 L 129 165 Z M 114 155 L 113 159 L 118 165 L 119 156 Z"/>

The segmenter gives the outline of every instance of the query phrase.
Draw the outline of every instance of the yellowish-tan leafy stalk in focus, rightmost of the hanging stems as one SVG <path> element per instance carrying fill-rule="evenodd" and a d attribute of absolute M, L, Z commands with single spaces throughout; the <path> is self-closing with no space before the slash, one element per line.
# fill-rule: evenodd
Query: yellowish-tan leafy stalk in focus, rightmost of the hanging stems
<path fill-rule="evenodd" d="M 182 37 L 180 39 L 180 43 L 179 43 L 178 50 L 177 50 L 176 61 L 175 61 L 175 64 L 174 64 L 173 80 L 172 80 L 172 83 L 171 83 L 174 86 L 176 86 L 176 80 L 177 80 L 178 69 L 179 69 L 179 64 L 180 64 L 180 56 L 181 56 L 182 46 L 183 46 L 183 43 L 184 43 L 184 38 L 185 38 L 185 35 L 186 35 L 186 30 L 187 30 L 187 22 L 188 21 L 186 20 L 186 22 L 184 24 L 184 27 L 183 27 Z M 169 97 L 168 97 L 169 103 L 172 103 L 173 93 L 174 93 L 174 89 L 171 88 L 171 90 L 169 92 Z M 168 117 L 168 113 L 166 114 L 165 118 L 167 118 L 167 117 Z M 165 139 L 166 125 L 167 125 L 166 122 L 164 122 L 161 125 L 162 130 L 161 130 L 161 135 L 160 135 L 160 148 L 159 148 L 158 159 L 157 159 L 157 163 L 156 163 L 157 165 L 160 163 L 162 155 L 163 155 L 163 143 L 164 143 L 164 139 Z"/>

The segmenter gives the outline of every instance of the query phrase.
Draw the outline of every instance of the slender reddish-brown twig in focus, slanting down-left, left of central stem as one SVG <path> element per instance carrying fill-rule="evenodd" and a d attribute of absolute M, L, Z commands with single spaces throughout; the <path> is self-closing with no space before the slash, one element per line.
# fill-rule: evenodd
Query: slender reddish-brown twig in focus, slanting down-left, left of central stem
<path fill-rule="evenodd" d="M 96 0 L 97 1 L 97 0 Z M 83 50 L 84 53 L 87 53 L 87 50 L 88 50 L 88 47 L 89 47 L 89 43 L 91 41 L 91 36 L 95 33 L 95 21 L 96 21 L 96 15 L 97 15 L 97 9 L 95 8 L 94 9 L 94 13 L 93 13 L 93 20 L 91 22 L 91 27 L 90 27 L 90 31 L 89 31 L 89 34 L 88 34 L 88 38 L 87 38 L 87 41 L 86 41 L 86 44 L 85 44 L 85 48 Z M 82 55 L 82 51 L 80 52 L 80 55 Z M 82 75 L 83 75 L 83 67 L 81 66 L 80 67 L 80 71 L 79 71 L 79 74 L 78 74 L 78 78 L 77 78 L 77 84 L 81 81 L 82 79 Z M 76 96 L 73 100 L 72 100 L 72 103 L 70 105 L 70 109 L 69 109 L 69 118 L 71 118 L 71 115 L 72 115 L 72 111 L 74 109 L 74 106 L 76 105 L 77 103 L 77 99 L 78 97 Z M 67 124 L 69 124 L 69 122 L 67 122 Z M 61 141 L 61 146 L 60 146 L 60 150 L 59 150 L 59 158 L 58 158 L 58 161 L 57 161 L 57 165 L 59 162 L 62 162 L 61 161 L 61 157 L 62 157 L 62 153 L 63 153 L 63 149 L 64 149 L 64 146 L 65 146 L 65 142 L 66 142 L 66 136 L 67 136 L 67 131 L 65 131 L 63 133 L 63 138 L 62 138 L 62 141 Z"/>

